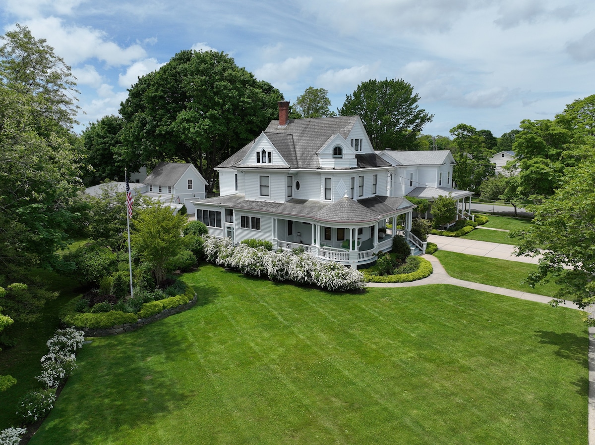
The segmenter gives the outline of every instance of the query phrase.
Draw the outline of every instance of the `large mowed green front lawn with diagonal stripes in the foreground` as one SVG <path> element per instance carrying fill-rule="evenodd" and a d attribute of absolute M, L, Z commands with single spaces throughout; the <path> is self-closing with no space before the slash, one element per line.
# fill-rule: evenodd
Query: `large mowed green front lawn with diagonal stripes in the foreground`
<path fill-rule="evenodd" d="M 210 265 L 94 339 L 35 444 L 587 443 L 581 313 L 434 285 L 340 294 Z"/>

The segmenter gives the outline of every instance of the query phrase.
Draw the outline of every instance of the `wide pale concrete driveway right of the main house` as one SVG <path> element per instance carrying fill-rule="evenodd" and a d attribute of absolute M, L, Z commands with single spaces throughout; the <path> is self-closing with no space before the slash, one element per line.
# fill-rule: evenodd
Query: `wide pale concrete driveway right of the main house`
<path fill-rule="evenodd" d="M 479 257 L 499 258 L 500 260 L 519 261 L 521 263 L 537 264 L 540 257 L 517 257 L 516 246 L 498 244 L 496 242 L 475 241 L 474 239 L 459 238 L 457 236 L 428 235 L 428 241 L 438 245 L 439 250 L 458 252 Z"/>

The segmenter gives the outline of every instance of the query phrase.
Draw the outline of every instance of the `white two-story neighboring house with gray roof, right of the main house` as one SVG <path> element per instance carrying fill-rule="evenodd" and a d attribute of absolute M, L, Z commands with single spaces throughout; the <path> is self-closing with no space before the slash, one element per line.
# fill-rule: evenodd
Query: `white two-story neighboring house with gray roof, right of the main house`
<path fill-rule="evenodd" d="M 453 188 L 452 170 L 456 162 L 450 150 L 384 150 L 377 153 L 394 167 L 390 196 L 409 196 L 428 201 L 434 201 L 439 196 L 449 196 L 457 203 L 456 219 L 471 217 L 468 209 L 471 209 L 473 192 Z"/>

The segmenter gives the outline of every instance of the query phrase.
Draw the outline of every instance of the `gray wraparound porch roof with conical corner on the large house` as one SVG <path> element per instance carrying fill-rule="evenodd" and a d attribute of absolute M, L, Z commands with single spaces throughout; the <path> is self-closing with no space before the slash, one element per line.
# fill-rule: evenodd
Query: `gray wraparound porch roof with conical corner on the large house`
<path fill-rule="evenodd" d="M 387 196 L 375 196 L 359 201 L 343 197 L 334 203 L 295 198 L 286 203 L 273 203 L 246 200 L 244 195 L 234 194 L 192 202 L 196 206 L 208 204 L 278 216 L 311 219 L 317 222 L 349 224 L 376 222 L 394 214 L 406 213 L 415 207 L 405 198 Z"/>

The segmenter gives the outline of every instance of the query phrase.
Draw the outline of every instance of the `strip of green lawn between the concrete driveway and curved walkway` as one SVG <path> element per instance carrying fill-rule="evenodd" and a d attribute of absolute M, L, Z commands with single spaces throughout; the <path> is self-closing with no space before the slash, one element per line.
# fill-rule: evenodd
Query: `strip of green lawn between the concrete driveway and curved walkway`
<path fill-rule="evenodd" d="M 461 280 L 552 297 L 559 289 L 558 285 L 551 282 L 535 288 L 521 283 L 530 272 L 537 270 L 535 264 L 478 257 L 446 250 L 439 250 L 434 253 L 434 256 L 440 260 L 450 276 Z"/>

